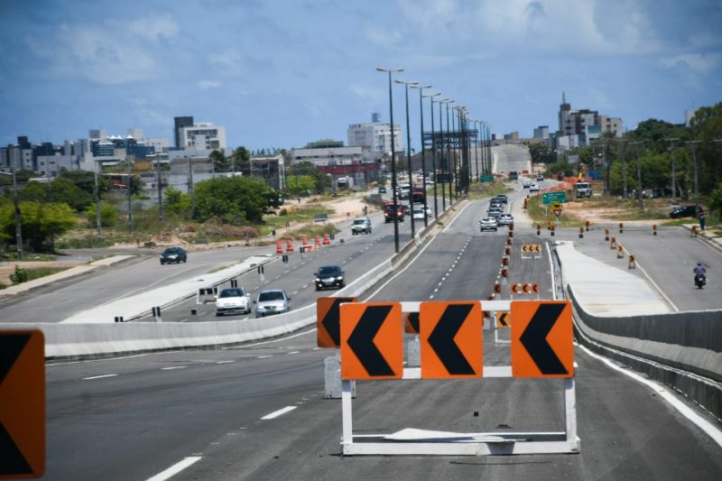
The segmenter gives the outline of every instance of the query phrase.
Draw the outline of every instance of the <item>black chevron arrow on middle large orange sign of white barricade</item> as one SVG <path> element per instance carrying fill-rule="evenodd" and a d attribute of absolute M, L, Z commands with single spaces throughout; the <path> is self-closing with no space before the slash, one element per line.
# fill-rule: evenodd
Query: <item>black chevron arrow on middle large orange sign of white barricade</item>
<path fill-rule="evenodd" d="M 436 356 L 446 367 L 449 375 L 475 374 L 474 368 L 468 364 L 467 358 L 454 342 L 454 336 L 467 320 L 467 315 L 472 308 L 471 304 L 449 305 L 441 314 L 441 319 L 429 336 L 430 347 L 436 352 Z"/>

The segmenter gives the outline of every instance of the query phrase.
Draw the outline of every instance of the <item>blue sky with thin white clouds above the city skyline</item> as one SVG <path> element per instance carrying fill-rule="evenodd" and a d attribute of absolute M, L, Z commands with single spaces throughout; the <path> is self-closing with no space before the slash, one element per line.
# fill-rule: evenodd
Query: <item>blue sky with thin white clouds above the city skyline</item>
<path fill-rule="evenodd" d="M 376 67 L 498 135 L 555 130 L 562 91 L 630 129 L 681 123 L 722 101 L 721 25 L 719 0 L 0 0 L 0 144 L 172 138 L 174 116 L 226 125 L 231 147 L 346 142 L 349 124 L 388 120 Z M 405 128 L 404 106 L 394 84 Z M 418 90 L 410 111 L 418 148 Z"/>

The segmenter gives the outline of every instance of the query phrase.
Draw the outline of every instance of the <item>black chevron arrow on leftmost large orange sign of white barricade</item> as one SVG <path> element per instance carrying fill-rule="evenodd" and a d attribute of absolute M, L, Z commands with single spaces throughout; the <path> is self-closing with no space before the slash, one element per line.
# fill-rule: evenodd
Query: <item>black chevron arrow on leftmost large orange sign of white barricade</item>
<path fill-rule="evenodd" d="M 391 308 L 392 306 L 368 306 L 348 337 L 348 347 L 351 347 L 370 376 L 394 374 L 391 366 L 374 344 L 378 329 L 384 324 L 384 319 Z"/>

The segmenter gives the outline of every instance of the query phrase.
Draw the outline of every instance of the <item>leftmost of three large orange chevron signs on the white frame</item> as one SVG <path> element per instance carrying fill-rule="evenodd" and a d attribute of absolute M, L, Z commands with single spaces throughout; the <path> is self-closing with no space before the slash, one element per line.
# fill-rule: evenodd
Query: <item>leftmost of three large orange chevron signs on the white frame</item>
<path fill-rule="evenodd" d="M 340 312 L 341 379 L 401 379 L 401 303 L 346 303 Z"/>

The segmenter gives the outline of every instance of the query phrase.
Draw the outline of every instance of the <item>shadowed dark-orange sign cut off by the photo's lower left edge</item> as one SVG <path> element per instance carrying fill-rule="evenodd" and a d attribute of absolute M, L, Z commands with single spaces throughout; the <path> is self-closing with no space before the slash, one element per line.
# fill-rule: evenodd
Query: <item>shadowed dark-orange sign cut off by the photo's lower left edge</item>
<path fill-rule="evenodd" d="M 45 341 L 0 330 L 0 479 L 45 473 Z"/>

